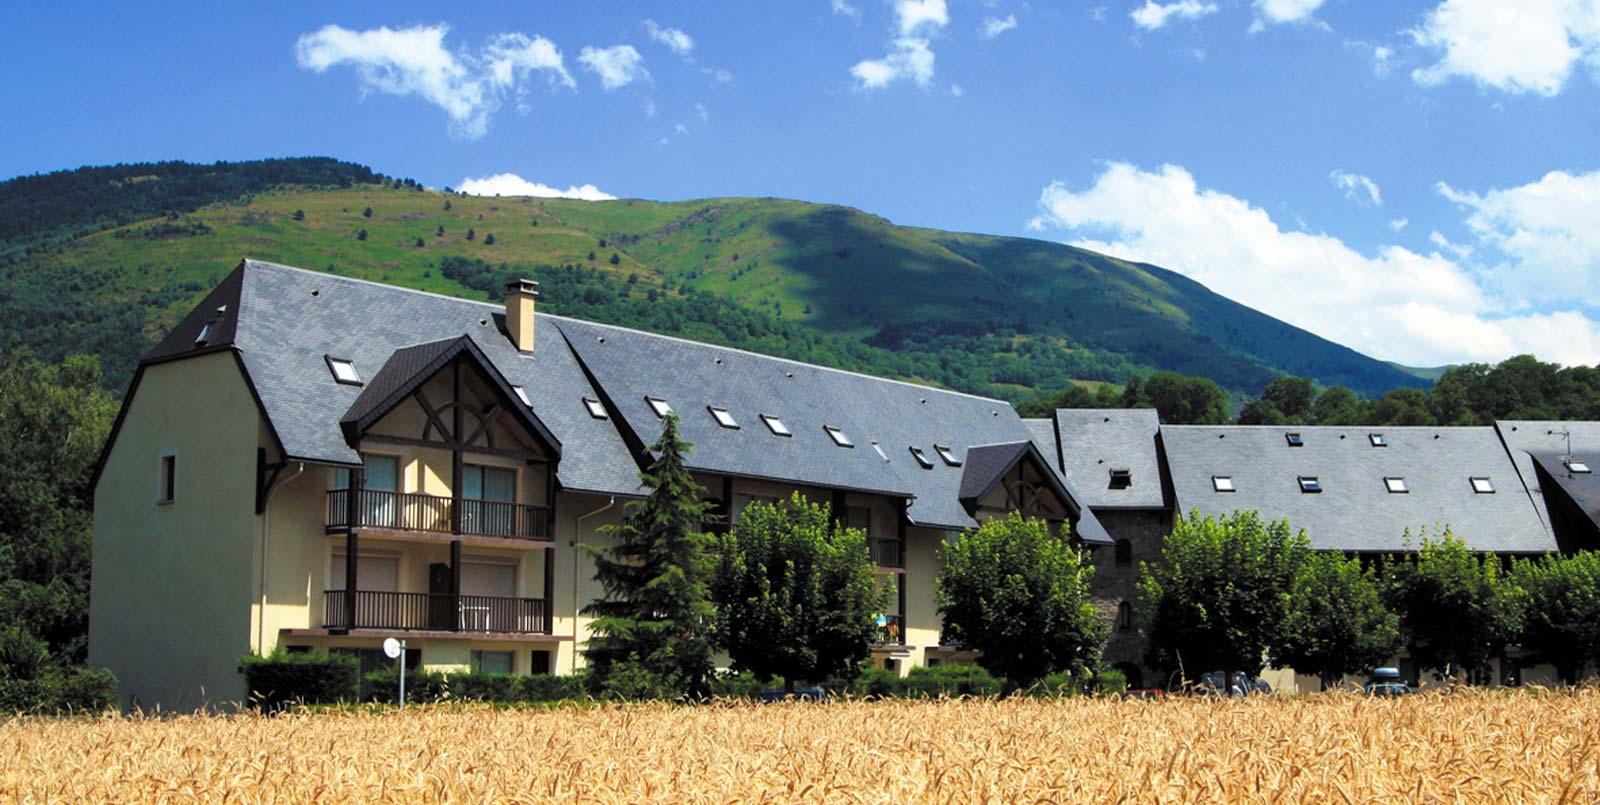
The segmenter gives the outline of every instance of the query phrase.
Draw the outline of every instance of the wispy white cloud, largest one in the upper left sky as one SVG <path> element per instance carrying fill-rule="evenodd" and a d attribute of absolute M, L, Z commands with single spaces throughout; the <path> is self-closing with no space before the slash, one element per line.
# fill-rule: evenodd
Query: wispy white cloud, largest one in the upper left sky
<path fill-rule="evenodd" d="M 562 51 L 544 37 L 496 34 L 472 56 L 448 50 L 448 26 L 368 30 L 323 26 L 294 42 L 294 61 L 318 74 L 354 67 L 363 93 L 414 94 L 443 109 L 451 131 L 464 138 L 488 131 L 506 93 L 515 93 L 526 110 L 522 82 L 533 72 L 547 74 L 552 85 L 576 88 Z"/>

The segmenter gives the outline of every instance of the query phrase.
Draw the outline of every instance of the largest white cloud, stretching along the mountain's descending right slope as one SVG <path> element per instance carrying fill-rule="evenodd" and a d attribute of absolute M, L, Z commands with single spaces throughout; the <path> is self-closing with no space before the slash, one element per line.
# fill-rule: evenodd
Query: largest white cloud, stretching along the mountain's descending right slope
<path fill-rule="evenodd" d="M 1488 195 L 1474 198 L 1498 206 Z M 1582 312 L 1506 315 L 1493 283 L 1480 285 L 1480 267 L 1395 245 L 1363 254 L 1326 234 L 1283 230 L 1259 206 L 1202 189 L 1176 165 L 1144 171 L 1109 163 L 1093 187 L 1074 192 L 1053 182 L 1038 203 L 1032 229 L 1059 227 L 1078 246 L 1170 267 L 1368 355 L 1410 365 L 1517 352 L 1600 360 L 1600 326 Z M 1488 229 L 1502 229 L 1491 221 Z"/>

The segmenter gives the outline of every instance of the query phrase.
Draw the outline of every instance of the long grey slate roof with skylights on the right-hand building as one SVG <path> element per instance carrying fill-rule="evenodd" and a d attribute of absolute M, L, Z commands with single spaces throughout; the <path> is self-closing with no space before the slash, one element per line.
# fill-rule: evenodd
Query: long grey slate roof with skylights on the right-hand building
<path fill-rule="evenodd" d="M 1290 447 L 1288 432 L 1304 447 Z M 1373 447 L 1374 432 L 1387 447 Z M 1443 525 L 1475 551 L 1555 549 L 1491 427 L 1165 426 L 1162 443 L 1184 514 L 1258 509 L 1328 551 L 1403 551 L 1416 544 L 1406 546 L 1406 528 L 1418 539 L 1419 528 Z M 1216 491 L 1213 475 L 1232 477 L 1237 491 Z M 1301 475 L 1317 477 L 1323 491 L 1301 491 Z M 1390 475 L 1410 491 L 1389 493 Z M 1475 493 L 1470 477 L 1491 479 L 1496 491 Z"/>

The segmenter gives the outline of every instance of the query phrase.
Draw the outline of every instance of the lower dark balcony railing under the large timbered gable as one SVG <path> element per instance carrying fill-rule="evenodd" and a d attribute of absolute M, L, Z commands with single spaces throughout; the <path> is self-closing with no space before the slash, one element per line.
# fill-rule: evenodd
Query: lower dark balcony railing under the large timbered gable
<path fill-rule="evenodd" d="M 346 591 L 323 594 L 323 626 L 328 629 L 550 634 L 550 608 L 544 599 L 357 591 L 354 594 L 355 623 L 350 623 L 346 610 L 350 595 Z"/>

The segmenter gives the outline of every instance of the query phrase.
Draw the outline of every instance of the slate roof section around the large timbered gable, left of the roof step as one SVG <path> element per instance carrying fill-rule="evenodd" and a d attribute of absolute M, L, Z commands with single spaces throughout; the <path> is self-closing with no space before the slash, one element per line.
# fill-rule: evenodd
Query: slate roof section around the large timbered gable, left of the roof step
<path fill-rule="evenodd" d="M 350 358 L 363 378 L 373 378 L 397 349 L 472 334 L 506 381 L 523 387 L 560 442 L 562 488 L 640 493 L 638 467 L 616 427 L 584 410 L 582 398 L 595 390 L 552 317 L 536 318 L 542 330 L 526 355 L 502 333 L 499 304 L 259 261 L 245 261 L 235 274 L 242 293 L 234 344 L 290 458 L 360 461 L 339 421 L 362 387 L 334 382 L 325 355 Z"/>

